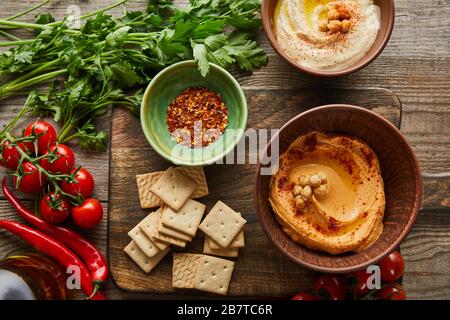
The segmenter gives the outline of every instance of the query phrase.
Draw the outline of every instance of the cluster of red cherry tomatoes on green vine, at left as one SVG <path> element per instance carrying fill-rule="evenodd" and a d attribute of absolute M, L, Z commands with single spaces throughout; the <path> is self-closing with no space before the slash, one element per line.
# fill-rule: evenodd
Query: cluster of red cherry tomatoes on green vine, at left
<path fill-rule="evenodd" d="M 57 179 L 61 192 L 51 191 L 44 195 L 39 204 L 41 216 L 55 224 L 71 216 L 81 228 L 97 226 L 103 216 L 103 207 L 97 199 L 91 198 L 94 191 L 92 174 L 86 168 L 75 168 L 74 152 L 69 146 L 57 142 L 56 130 L 50 123 L 42 120 L 30 123 L 22 138 L 26 137 L 30 139 L 16 145 L 9 141 L 2 143 L 0 163 L 16 171 L 14 184 L 22 192 L 37 194 L 48 190 L 47 182 L 52 177 L 73 175 L 74 180 Z M 19 167 L 22 155 L 18 148 L 30 159 L 40 160 L 25 160 Z M 49 186 L 52 187 L 51 184 Z"/>

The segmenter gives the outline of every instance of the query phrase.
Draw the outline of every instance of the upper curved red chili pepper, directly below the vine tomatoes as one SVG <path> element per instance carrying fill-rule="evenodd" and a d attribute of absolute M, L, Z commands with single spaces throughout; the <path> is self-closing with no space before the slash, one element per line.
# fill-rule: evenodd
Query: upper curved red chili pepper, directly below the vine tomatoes
<path fill-rule="evenodd" d="M 14 209 L 16 209 L 26 221 L 35 226 L 38 230 L 54 238 L 56 241 L 61 242 L 81 257 L 91 273 L 91 279 L 94 286 L 96 289 L 99 289 L 102 283 L 108 278 L 108 265 L 97 248 L 75 231 L 55 226 L 33 214 L 11 192 L 6 185 L 6 178 L 3 178 L 2 190 L 9 203 L 11 203 Z"/>

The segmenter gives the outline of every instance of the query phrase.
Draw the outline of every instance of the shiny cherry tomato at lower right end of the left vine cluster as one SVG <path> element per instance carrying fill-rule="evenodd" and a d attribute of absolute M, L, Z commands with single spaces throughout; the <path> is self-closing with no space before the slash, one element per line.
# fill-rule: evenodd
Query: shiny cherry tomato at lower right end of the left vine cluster
<path fill-rule="evenodd" d="M 92 229 L 97 226 L 103 217 L 103 206 L 97 200 L 89 198 L 72 208 L 72 219 L 76 225 L 84 229 Z"/>

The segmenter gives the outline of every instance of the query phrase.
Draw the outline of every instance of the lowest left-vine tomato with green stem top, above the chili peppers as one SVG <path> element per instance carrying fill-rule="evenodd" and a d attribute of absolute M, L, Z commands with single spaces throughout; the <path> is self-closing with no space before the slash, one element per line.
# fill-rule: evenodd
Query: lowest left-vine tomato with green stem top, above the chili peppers
<path fill-rule="evenodd" d="M 46 194 L 39 205 L 42 218 L 50 223 L 65 221 L 69 217 L 70 208 L 69 200 L 59 194 L 55 196 L 54 192 Z"/>

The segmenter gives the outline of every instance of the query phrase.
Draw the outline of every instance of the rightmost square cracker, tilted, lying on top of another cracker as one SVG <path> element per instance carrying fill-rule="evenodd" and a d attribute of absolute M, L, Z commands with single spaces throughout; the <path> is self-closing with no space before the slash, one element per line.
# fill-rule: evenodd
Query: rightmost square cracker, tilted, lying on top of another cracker
<path fill-rule="evenodd" d="M 247 221 L 222 201 L 200 224 L 200 229 L 220 246 L 226 248 L 236 238 Z"/>

